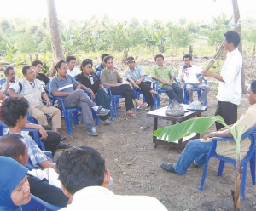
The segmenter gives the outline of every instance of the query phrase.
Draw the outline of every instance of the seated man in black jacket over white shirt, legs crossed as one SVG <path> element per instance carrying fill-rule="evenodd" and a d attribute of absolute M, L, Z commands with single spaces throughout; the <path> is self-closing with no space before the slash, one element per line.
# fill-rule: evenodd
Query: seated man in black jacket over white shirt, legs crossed
<path fill-rule="evenodd" d="M 101 105 L 103 108 L 108 109 L 111 102 L 110 97 L 103 87 L 101 79 L 97 77 L 95 72 L 91 71 L 91 67 L 91 60 L 83 60 L 81 65 L 82 73 L 77 75 L 75 78 L 81 84 L 81 88 L 90 91 L 93 99 L 96 100 L 97 106 Z M 108 117 L 109 114 L 100 117 L 103 124 L 109 124 Z"/>

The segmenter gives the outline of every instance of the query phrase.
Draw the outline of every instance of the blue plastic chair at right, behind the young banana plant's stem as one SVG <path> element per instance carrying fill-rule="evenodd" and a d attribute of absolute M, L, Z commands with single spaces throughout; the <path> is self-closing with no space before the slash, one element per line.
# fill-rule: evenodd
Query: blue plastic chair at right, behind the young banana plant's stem
<path fill-rule="evenodd" d="M 245 198 L 245 188 L 246 188 L 246 180 L 247 180 L 247 163 L 250 162 L 250 168 L 251 168 L 251 176 L 252 176 L 252 181 L 253 185 L 256 185 L 255 181 L 255 163 L 256 163 L 256 157 L 255 157 L 255 150 L 256 150 L 256 145 L 255 145 L 255 139 L 256 139 L 256 127 L 250 129 L 246 133 L 244 133 L 241 136 L 241 139 L 244 139 L 246 137 L 249 137 L 251 139 L 251 145 L 249 148 L 249 151 L 247 152 L 246 157 L 244 157 L 241 160 L 241 186 L 240 186 L 240 196 L 241 200 Z M 219 165 L 218 165 L 218 173 L 217 176 L 221 176 L 223 174 L 224 170 L 224 164 L 225 162 L 231 163 L 236 167 L 236 159 L 232 159 L 230 157 L 224 157 L 216 154 L 216 146 L 217 146 L 217 141 L 234 141 L 233 138 L 213 138 L 212 139 L 212 147 L 210 151 L 207 154 L 207 160 L 205 163 L 205 168 L 201 177 L 201 185 L 199 186 L 199 190 L 202 191 L 204 188 L 204 183 L 207 177 L 207 168 L 208 168 L 208 162 L 211 157 L 215 157 L 219 160 Z"/>

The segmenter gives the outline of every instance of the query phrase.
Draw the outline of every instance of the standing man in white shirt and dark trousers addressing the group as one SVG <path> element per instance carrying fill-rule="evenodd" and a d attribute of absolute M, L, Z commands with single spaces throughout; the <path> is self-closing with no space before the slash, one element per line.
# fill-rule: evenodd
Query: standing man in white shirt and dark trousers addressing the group
<path fill-rule="evenodd" d="M 241 100 L 241 66 L 242 57 L 237 46 L 240 43 L 239 34 L 236 31 L 227 31 L 224 33 L 223 46 L 228 51 L 227 58 L 224 61 L 220 75 L 210 71 L 203 71 L 205 77 L 214 77 L 219 81 L 218 86 L 218 106 L 215 115 L 224 118 L 226 124 L 236 123 L 237 106 Z M 216 129 L 224 126 L 216 123 Z"/>

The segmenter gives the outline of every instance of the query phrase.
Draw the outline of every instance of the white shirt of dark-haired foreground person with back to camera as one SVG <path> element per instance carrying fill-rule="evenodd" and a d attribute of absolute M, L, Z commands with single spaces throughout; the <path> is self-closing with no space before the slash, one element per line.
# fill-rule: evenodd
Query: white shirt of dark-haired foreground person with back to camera
<path fill-rule="evenodd" d="M 73 201 L 61 210 L 112 210 L 112 211 L 167 211 L 154 197 L 114 195 L 102 186 L 85 187 L 73 195 Z"/>

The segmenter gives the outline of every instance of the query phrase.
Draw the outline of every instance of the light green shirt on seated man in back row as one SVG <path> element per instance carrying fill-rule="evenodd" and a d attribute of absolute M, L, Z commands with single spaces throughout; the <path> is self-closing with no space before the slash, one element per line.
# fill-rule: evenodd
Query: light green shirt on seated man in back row
<path fill-rule="evenodd" d="M 170 66 L 153 66 L 151 69 L 151 77 L 159 77 L 160 79 L 170 82 L 171 77 L 174 76 L 172 68 Z M 175 83 L 174 80 L 172 83 Z M 161 88 L 164 84 L 159 82 L 159 87 Z"/>

